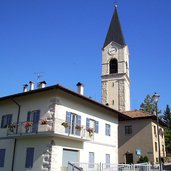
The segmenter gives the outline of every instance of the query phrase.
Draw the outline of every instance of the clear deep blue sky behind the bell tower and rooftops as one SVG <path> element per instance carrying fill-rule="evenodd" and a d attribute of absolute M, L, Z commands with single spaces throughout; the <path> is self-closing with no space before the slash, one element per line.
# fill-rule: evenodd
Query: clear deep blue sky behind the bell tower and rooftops
<path fill-rule="evenodd" d="M 0 96 L 22 92 L 23 84 L 61 84 L 101 100 L 101 48 L 114 0 L 1 0 Z M 130 49 L 131 109 L 160 94 L 171 105 L 171 0 L 118 0 Z"/>

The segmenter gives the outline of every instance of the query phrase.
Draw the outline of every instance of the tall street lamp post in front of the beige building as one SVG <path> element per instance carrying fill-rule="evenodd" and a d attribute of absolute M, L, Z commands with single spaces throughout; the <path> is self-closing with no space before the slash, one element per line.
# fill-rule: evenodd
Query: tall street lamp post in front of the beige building
<path fill-rule="evenodd" d="M 157 93 L 154 93 L 153 97 L 152 97 L 152 100 L 154 101 L 155 103 L 155 112 L 156 112 L 156 117 L 157 117 L 157 138 L 158 138 L 158 156 L 159 156 L 159 165 L 160 165 L 160 171 L 161 171 L 161 156 L 160 156 L 160 137 L 159 137 L 159 118 L 158 118 L 158 107 L 157 107 L 157 104 L 158 104 L 158 100 L 159 100 L 159 95 Z"/>

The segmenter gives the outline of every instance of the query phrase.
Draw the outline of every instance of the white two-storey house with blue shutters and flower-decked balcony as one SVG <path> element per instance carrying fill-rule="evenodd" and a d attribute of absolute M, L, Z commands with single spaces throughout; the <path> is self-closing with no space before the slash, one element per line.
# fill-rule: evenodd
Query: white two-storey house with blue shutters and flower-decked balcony
<path fill-rule="evenodd" d="M 34 90 L 30 82 L 29 91 L 0 98 L 0 171 L 118 163 L 118 119 L 125 116 L 80 94 L 80 83 L 79 92 L 41 85 Z"/>

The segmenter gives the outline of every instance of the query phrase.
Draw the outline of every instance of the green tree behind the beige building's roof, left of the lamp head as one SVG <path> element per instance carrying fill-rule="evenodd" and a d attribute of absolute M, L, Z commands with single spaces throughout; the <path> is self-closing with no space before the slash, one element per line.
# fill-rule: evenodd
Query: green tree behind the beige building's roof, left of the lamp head
<path fill-rule="evenodd" d="M 153 101 L 152 96 L 147 94 L 144 102 L 140 105 L 140 110 L 154 114 L 154 111 L 156 111 L 156 104 Z M 160 114 L 161 110 L 157 109 L 157 113 Z"/>

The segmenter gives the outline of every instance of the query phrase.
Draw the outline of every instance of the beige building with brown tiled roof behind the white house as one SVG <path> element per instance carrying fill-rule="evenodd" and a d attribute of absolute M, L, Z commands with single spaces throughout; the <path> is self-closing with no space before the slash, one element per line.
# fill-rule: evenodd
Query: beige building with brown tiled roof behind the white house
<path fill-rule="evenodd" d="M 119 122 L 119 163 L 137 163 L 147 156 L 151 163 L 159 162 L 157 118 L 142 111 L 125 112 L 131 119 Z M 163 122 L 159 122 L 160 155 L 166 157 Z"/>

